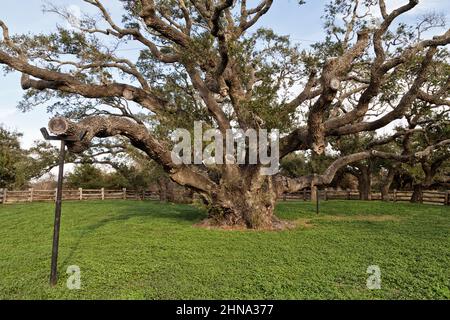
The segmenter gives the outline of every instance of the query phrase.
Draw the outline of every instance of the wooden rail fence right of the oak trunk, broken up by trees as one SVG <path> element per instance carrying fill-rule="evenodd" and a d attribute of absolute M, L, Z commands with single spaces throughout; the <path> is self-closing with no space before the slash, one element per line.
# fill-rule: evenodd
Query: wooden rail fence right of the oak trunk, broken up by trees
<path fill-rule="evenodd" d="M 358 190 L 333 190 L 325 189 L 317 191 L 318 197 L 321 201 L 327 200 L 359 200 L 360 195 Z M 397 191 L 389 192 L 388 201 L 392 202 L 409 202 L 411 200 L 412 191 Z M 422 203 L 426 204 L 440 204 L 450 205 L 450 191 L 423 191 Z M 304 189 L 300 192 L 287 193 L 282 196 L 283 201 L 289 200 L 303 200 L 311 201 L 311 190 Z M 370 200 L 382 200 L 380 192 L 371 192 Z"/>

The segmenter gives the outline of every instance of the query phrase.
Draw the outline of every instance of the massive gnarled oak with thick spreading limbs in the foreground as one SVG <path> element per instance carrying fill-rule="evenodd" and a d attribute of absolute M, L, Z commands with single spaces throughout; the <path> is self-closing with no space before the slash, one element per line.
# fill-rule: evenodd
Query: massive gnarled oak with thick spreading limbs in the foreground
<path fill-rule="evenodd" d="M 264 176 L 261 161 L 213 167 L 174 163 L 175 128 L 192 131 L 194 120 L 223 135 L 228 129 L 277 128 L 282 159 L 298 150 L 322 154 L 329 139 L 383 128 L 404 118 L 417 100 L 449 103 L 448 82 L 430 83 L 428 75 L 450 42 L 450 30 L 423 39 L 423 27 L 411 33 L 396 24 L 417 0 L 392 12 L 384 0 L 330 2 L 328 36 L 315 52 L 301 51 L 271 30 L 253 30 L 273 0 L 254 7 L 246 0 L 124 0 L 120 23 L 100 0 L 84 3 L 103 20 L 86 15 L 74 30 L 58 27 L 36 36 L 11 36 L 0 23 L 0 63 L 21 72 L 27 90 L 21 107 L 50 104 L 70 119 L 68 129 L 87 130 L 83 141 L 69 145 L 74 153 L 97 138 L 125 137 L 173 181 L 203 197 L 210 208 L 206 225 L 282 228 L 273 214 L 280 193 L 329 184 L 353 162 L 398 156 L 366 150 L 340 156 L 320 174 Z M 64 8 L 47 10 L 72 18 Z M 375 10 L 379 19 L 371 16 Z M 125 42 L 143 47 L 137 61 L 120 56 L 117 49 Z M 389 97 L 386 87 L 394 84 L 395 96 Z M 302 89 L 293 94 L 295 85 Z M 379 102 L 386 109 L 373 119 L 369 111 Z M 449 143 L 439 141 L 409 157 L 423 158 Z"/>

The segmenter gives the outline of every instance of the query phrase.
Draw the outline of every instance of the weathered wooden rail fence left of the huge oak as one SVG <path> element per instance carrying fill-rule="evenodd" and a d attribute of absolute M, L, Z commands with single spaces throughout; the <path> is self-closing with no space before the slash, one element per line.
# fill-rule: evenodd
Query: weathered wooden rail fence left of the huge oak
<path fill-rule="evenodd" d="M 63 190 L 63 200 L 159 200 L 159 194 L 150 191 L 108 190 L 108 189 L 71 189 Z M 56 189 L 11 191 L 0 189 L 0 203 L 18 203 L 34 201 L 56 201 Z"/>

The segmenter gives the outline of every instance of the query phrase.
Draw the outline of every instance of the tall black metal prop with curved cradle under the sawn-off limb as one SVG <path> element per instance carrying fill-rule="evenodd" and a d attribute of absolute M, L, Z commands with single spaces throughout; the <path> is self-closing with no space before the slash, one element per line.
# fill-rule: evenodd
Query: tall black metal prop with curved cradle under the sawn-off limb
<path fill-rule="evenodd" d="M 86 132 L 83 132 L 80 136 L 66 136 L 66 135 L 50 136 L 46 128 L 41 128 L 41 133 L 44 136 L 45 140 L 61 141 L 61 148 L 59 151 L 58 185 L 55 203 L 55 220 L 53 224 L 52 262 L 50 268 L 50 285 L 55 286 L 58 281 L 57 269 L 58 269 L 59 229 L 61 225 L 62 187 L 64 177 L 64 159 L 66 156 L 66 142 L 80 141 L 83 139 Z"/>

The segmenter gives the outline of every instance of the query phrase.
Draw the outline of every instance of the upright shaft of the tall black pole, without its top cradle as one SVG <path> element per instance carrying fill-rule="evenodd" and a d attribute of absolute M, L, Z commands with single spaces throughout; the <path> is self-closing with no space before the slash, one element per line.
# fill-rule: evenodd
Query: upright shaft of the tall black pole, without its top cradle
<path fill-rule="evenodd" d="M 58 281 L 58 246 L 59 246 L 59 227 L 61 224 L 61 204 L 62 204 L 62 185 L 64 176 L 64 158 L 66 154 L 66 142 L 61 140 L 61 150 L 59 153 L 59 173 L 58 186 L 56 191 L 55 222 L 53 225 L 53 246 L 52 246 L 52 265 L 50 271 L 50 285 L 56 285 Z"/>

